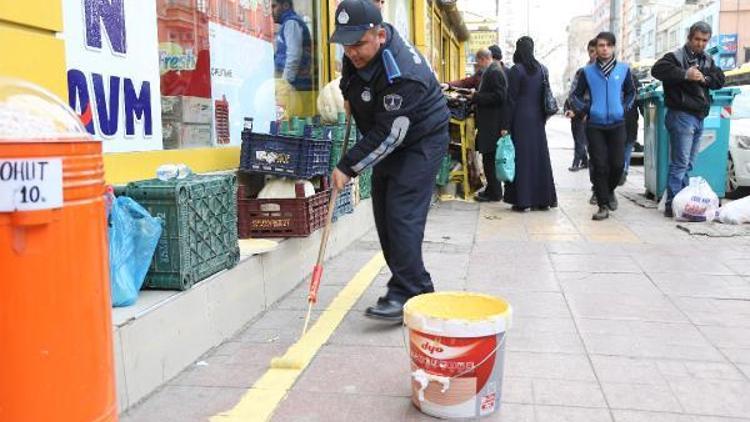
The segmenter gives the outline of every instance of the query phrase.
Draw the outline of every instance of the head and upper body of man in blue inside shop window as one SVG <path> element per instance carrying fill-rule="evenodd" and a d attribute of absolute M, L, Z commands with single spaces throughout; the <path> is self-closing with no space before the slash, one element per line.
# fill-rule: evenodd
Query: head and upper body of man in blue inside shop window
<path fill-rule="evenodd" d="M 273 0 L 273 20 L 278 23 L 274 67 L 297 91 L 312 90 L 312 38 L 305 21 L 294 11 L 293 0 Z"/>

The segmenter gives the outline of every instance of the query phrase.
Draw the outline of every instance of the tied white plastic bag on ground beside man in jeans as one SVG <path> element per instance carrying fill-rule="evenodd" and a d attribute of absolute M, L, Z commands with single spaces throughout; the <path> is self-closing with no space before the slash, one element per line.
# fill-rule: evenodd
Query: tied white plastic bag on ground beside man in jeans
<path fill-rule="evenodd" d="M 713 221 L 718 209 L 719 197 L 702 177 L 691 177 L 690 184 L 672 200 L 677 221 Z"/>

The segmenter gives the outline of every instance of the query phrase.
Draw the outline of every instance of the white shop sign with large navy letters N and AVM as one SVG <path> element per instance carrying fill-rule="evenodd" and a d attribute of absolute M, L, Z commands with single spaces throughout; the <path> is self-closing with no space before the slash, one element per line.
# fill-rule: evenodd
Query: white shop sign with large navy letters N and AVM
<path fill-rule="evenodd" d="M 105 152 L 162 148 L 156 5 L 66 0 L 68 101 Z M 189 59 L 188 59 L 189 60 Z M 175 59 L 169 65 L 180 66 Z"/>

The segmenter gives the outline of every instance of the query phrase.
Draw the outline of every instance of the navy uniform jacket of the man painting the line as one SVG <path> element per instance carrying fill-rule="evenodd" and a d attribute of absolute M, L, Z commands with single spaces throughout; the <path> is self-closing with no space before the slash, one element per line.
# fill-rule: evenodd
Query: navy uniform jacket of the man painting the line
<path fill-rule="evenodd" d="M 349 176 L 403 150 L 450 142 L 450 112 L 427 60 L 391 25 L 383 26 L 388 36 L 380 53 L 362 69 L 351 66 L 341 80 L 362 133 L 338 164 Z"/>

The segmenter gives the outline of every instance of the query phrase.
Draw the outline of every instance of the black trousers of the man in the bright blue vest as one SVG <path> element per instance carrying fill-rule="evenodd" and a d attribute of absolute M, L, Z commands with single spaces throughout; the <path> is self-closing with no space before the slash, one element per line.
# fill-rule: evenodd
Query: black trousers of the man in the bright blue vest
<path fill-rule="evenodd" d="M 625 125 L 612 128 L 586 127 L 591 154 L 594 193 L 600 205 L 609 202 L 625 165 Z"/>

